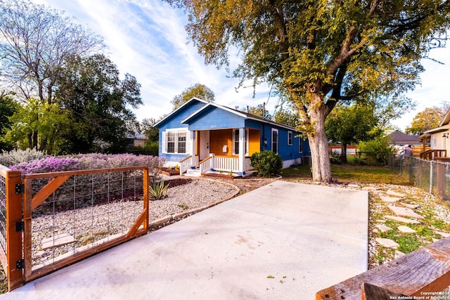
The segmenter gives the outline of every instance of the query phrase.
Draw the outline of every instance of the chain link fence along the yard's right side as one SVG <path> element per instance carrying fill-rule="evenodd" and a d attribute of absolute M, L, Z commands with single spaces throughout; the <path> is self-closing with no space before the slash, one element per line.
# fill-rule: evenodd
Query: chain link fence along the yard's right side
<path fill-rule="evenodd" d="M 442 200 L 450 200 L 450 163 L 390 155 L 389 167 L 397 174 L 409 178 L 411 185 L 441 197 Z"/>

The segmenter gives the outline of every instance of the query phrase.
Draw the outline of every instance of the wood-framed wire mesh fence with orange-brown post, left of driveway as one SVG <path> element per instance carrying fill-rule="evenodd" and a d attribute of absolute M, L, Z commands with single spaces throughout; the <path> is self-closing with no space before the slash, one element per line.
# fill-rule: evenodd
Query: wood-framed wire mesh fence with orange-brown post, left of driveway
<path fill-rule="evenodd" d="M 148 232 L 147 166 L 0 174 L 9 290 Z"/>

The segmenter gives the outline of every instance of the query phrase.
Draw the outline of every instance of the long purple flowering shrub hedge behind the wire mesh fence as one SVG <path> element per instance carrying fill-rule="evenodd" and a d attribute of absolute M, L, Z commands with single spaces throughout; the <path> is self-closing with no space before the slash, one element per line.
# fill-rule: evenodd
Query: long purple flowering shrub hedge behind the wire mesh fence
<path fill-rule="evenodd" d="M 75 171 L 89 169 L 110 169 L 119 167 L 148 166 L 150 176 L 158 176 L 155 171 L 164 161 L 150 155 L 70 155 L 66 157 L 44 157 L 31 162 L 23 162 L 10 168 L 25 174 Z M 96 174 L 71 176 L 53 195 L 45 200 L 34 212 L 52 214 L 103 204 L 118 200 L 138 200 L 143 193 L 142 171 L 109 171 Z M 32 193 L 37 193 L 52 178 L 37 178 L 32 181 Z"/>

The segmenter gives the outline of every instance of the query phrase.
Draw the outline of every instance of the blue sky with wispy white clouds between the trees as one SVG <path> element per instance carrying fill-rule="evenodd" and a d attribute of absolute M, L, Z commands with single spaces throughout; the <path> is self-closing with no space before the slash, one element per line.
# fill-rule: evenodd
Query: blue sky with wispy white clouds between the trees
<path fill-rule="evenodd" d="M 180 9 L 161 0 L 34 0 L 76 20 L 103 37 L 107 55 L 122 76 L 129 73 L 141 84 L 143 105 L 134 110 L 136 118 L 158 119 L 172 110 L 170 101 L 193 84 L 205 84 L 218 104 L 228 107 L 266 103 L 274 113 L 278 98 L 269 97 L 270 86 L 254 90 L 251 84 L 238 87 L 239 80 L 224 68 L 205 65 L 184 30 L 187 17 Z M 425 107 L 450 102 L 450 50 L 434 49 L 430 57 L 444 63 L 423 60 L 422 84 L 406 94 L 416 109 L 392 120 L 401 131 Z M 238 53 L 231 53 L 231 70 L 238 65 Z"/>

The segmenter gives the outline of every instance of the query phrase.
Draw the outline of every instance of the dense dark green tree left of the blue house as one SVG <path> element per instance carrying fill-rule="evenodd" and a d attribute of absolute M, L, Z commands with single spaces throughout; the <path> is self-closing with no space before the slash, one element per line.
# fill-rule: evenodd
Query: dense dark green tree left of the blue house
<path fill-rule="evenodd" d="M 56 95 L 72 122 L 65 151 L 123 150 L 127 129 L 136 123 L 129 107 L 142 104 L 136 78 L 125 74 L 120 80 L 116 65 L 101 54 L 74 56 L 60 74 Z"/>

